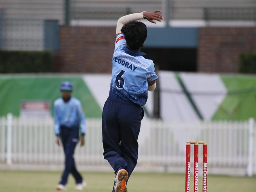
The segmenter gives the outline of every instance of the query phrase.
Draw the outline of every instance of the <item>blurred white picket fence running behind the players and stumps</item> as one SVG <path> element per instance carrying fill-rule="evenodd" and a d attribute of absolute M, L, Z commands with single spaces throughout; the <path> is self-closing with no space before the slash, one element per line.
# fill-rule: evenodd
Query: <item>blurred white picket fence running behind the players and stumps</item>
<path fill-rule="evenodd" d="M 55 143 L 53 127 L 52 117 L 20 118 L 11 114 L 1 117 L 0 166 L 62 164 L 64 155 L 62 147 Z M 87 119 L 87 130 L 85 147 L 77 147 L 75 152 L 77 164 L 109 167 L 103 159 L 101 119 Z M 162 171 L 185 171 L 187 140 L 207 141 L 209 173 L 256 175 L 253 119 L 200 123 L 144 119 L 138 139 L 138 167 L 143 171 L 151 171 L 152 167 Z M 202 149 L 199 155 L 202 157 Z M 202 163 L 202 158 L 200 160 Z"/>

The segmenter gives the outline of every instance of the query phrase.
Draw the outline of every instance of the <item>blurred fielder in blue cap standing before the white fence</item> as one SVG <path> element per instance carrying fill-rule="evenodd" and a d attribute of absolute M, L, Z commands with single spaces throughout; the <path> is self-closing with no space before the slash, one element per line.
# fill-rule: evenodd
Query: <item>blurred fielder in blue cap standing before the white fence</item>
<path fill-rule="evenodd" d="M 64 148 L 65 169 L 57 190 L 65 190 L 69 173 L 75 178 L 75 189 L 82 190 L 86 183 L 77 171 L 73 154 L 79 141 L 79 128 L 81 132 L 80 143 L 84 145 L 84 135 L 86 133 L 85 116 L 80 101 L 75 97 L 71 97 L 72 84 L 67 81 L 62 82 L 60 91 L 62 92 L 62 98 L 54 101 L 54 120 L 57 144 L 60 145 L 61 138 Z"/>

